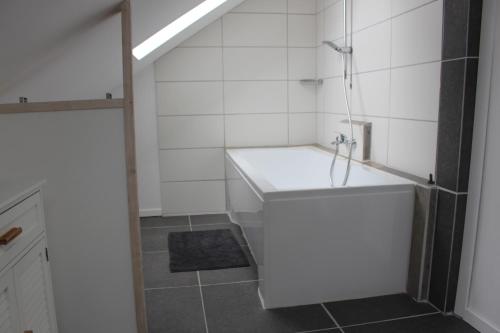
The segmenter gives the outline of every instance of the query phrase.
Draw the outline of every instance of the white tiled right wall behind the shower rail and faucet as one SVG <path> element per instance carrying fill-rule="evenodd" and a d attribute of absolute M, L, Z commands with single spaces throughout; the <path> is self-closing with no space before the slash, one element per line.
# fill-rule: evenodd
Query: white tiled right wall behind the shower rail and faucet
<path fill-rule="evenodd" d="M 372 160 L 427 178 L 435 173 L 442 0 L 348 1 L 354 119 L 372 123 Z M 340 56 L 343 1 L 317 1 L 318 142 L 331 147 L 346 119 Z"/>

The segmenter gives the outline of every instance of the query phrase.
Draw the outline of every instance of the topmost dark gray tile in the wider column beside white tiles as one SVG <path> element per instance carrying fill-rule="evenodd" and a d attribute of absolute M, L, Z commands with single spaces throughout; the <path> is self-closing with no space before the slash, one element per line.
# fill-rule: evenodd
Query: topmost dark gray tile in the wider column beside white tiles
<path fill-rule="evenodd" d="M 469 0 L 445 0 L 443 9 L 443 59 L 465 57 Z"/>

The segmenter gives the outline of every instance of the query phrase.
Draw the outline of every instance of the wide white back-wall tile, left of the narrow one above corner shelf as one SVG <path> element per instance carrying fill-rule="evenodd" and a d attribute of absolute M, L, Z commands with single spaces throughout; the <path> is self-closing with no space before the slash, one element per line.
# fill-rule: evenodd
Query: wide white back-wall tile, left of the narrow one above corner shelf
<path fill-rule="evenodd" d="M 226 80 L 286 80 L 286 48 L 226 48 Z"/>

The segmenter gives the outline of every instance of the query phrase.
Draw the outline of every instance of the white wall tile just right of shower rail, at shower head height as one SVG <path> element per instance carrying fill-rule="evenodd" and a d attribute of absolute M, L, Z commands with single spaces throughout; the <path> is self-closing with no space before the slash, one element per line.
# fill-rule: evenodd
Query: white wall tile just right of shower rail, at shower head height
<path fill-rule="evenodd" d="M 391 65 L 391 23 L 386 21 L 353 35 L 353 72 L 389 68 Z"/>

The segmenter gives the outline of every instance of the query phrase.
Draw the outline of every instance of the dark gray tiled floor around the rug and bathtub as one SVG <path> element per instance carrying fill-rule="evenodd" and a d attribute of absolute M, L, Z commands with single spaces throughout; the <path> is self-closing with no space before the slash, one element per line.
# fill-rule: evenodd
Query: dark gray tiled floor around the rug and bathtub
<path fill-rule="evenodd" d="M 230 228 L 251 267 L 170 273 L 171 231 Z M 475 333 L 406 295 L 263 310 L 257 268 L 238 226 L 225 215 L 142 220 L 144 277 L 150 333 Z"/>

